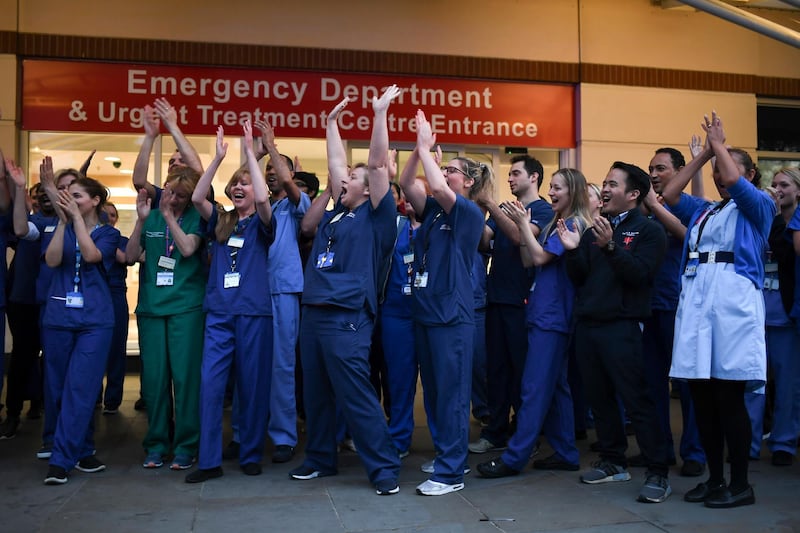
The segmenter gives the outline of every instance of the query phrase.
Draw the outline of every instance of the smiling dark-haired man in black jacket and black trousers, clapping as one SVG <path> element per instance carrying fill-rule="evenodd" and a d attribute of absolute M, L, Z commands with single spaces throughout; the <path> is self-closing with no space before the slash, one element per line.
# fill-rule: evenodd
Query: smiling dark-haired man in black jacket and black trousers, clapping
<path fill-rule="evenodd" d="M 600 460 L 581 475 L 584 483 L 628 481 L 628 440 L 617 395 L 633 422 L 647 461 L 639 501 L 660 503 L 672 493 L 667 441 L 654 416 L 642 363 L 640 321 L 650 316 L 653 279 L 664 257 L 664 230 L 638 209 L 650 190 L 641 168 L 616 162 L 603 181 L 604 217 L 580 236 L 558 224 L 575 284 L 575 348 L 586 396 L 594 413 Z"/>

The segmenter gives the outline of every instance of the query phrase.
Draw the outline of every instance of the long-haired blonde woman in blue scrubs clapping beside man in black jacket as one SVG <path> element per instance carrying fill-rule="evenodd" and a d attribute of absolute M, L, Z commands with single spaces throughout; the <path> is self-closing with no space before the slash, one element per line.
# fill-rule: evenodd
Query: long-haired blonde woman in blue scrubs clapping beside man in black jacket
<path fill-rule="evenodd" d="M 528 298 L 528 355 L 522 376 L 522 408 L 517 431 L 501 457 L 478 465 L 484 477 L 516 475 L 525 468 L 539 434 L 544 434 L 555 453 L 533 462 L 540 470 L 578 470 L 572 397 L 567 382 L 569 335 L 575 288 L 567 276 L 562 257 L 564 246 L 558 227 L 577 233 L 590 225 L 586 178 L 579 170 L 564 168 L 550 181 L 553 220 L 534 237 L 530 216 L 519 202 L 504 202 L 500 208 L 520 230 L 522 263 L 536 267 L 536 283 Z"/>

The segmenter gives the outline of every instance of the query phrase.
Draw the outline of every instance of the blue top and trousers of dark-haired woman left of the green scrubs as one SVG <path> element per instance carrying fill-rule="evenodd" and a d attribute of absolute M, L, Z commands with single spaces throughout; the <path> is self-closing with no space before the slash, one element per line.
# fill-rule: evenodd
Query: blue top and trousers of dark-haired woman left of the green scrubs
<path fill-rule="evenodd" d="M 65 228 L 61 264 L 52 269 L 42 317 L 45 416 L 55 417 L 50 420 L 55 427 L 50 464 L 67 471 L 94 453 L 94 406 L 114 327 L 107 272 L 119 231 L 97 226 L 91 237 L 103 256 L 99 263 L 82 260 L 72 224 Z"/>

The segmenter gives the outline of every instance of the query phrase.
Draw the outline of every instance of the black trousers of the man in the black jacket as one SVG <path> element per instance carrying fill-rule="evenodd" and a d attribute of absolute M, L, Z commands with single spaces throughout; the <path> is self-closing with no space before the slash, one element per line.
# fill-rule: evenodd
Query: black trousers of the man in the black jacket
<path fill-rule="evenodd" d="M 633 424 L 648 470 L 666 476 L 669 470 L 667 439 L 648 395 L 639 322 L 579 320 L 575 328 L 575 350 L 586 399 L 594 413 L 600 458 L 627 467 L 628 439 L 619 414 L 619 396 Z"/>

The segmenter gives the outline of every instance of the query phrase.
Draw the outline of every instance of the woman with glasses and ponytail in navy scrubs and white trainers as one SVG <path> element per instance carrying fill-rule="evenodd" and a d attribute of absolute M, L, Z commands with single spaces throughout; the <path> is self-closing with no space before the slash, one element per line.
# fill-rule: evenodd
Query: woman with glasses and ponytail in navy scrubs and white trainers
<path fill-rule="evenodd" d="M 484 225 L 469 198 L 491 182 L 492 171 L 462 157 L 440 169 L 431 154 L 436 136 L 422 111 L 416 125 L 417 147 L 400 185 L 422 221 L 414 247 L 414 337 L 436 449 L 433 474 L 417 493 L 439 496 L 464 488 L 475 333 L 471 272 Z M 419 162 L 432 198 L 414 179 Z"/>

